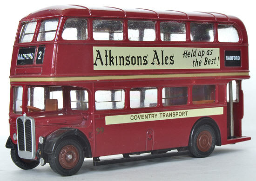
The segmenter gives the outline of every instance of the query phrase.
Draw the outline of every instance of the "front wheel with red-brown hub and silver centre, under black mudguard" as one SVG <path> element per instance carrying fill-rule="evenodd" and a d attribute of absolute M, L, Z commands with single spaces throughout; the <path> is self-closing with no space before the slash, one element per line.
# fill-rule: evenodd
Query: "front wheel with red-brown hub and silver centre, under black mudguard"
<path fill-rule="evenodd" d="M 61 141 L 49 156 L 50 167 L 63 176 L 74 175 L 81 168 L 83 161 L 84 152 L 81 145 L 71 139 Z"/>

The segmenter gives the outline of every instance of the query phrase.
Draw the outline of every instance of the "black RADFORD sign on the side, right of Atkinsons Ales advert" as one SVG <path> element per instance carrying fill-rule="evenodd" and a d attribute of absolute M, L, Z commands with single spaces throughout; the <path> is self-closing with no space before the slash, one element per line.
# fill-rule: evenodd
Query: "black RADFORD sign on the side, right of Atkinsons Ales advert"
<path fill-rule="evenodd" d="M 241 51 L 225 51 L 225 66 L 241 66 Z"/>

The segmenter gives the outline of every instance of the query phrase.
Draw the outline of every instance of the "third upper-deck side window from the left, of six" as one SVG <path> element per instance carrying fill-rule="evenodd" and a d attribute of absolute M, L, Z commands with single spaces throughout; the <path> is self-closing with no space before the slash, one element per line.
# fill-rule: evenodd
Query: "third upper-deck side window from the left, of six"
<path fill-rule="evenodd" d="M 129 20 L 128 39 L 130 41 L 155 41 L 155 22 Z"/>

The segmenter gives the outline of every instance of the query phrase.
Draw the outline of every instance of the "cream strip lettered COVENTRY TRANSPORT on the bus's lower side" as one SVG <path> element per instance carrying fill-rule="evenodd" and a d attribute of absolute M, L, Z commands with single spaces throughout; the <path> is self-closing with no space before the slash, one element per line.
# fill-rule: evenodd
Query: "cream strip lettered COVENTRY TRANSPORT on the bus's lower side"
<path fill-rule="evenodd" d="M 159 121 L 159 120 L 172 120 L 186 117 L 198 117 L 198 116 L 213 116 L 222 115 L 223 107 L 215 108 L 202 108 L 192 110 L 175 110 L 175 111 L 164 111 L 164 112 L 148 112 L 140 114 L 127 114 L 127 115 L 116 115 L 106 116 L 106 125 L 110 124 L 123 124 L 123 123 L 138 123 L 146 121 Z"/>

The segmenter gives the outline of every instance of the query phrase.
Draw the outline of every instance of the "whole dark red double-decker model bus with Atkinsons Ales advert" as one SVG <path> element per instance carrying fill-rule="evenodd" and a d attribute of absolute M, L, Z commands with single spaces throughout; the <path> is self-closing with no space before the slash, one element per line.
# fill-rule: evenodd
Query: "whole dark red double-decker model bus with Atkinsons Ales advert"
<path fill-rule="evenodd" d="M 248 38 L 236 17 L 48 7 L 20 20 L 6 147 L 18 167 L 48 162 L 61 175 L 85 157 L 94 165 L 206 157 L 250 140 L 241 131 L 248 78 Z M 130 157 L 141 153 L 151 154 Z"/>

